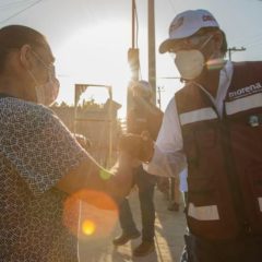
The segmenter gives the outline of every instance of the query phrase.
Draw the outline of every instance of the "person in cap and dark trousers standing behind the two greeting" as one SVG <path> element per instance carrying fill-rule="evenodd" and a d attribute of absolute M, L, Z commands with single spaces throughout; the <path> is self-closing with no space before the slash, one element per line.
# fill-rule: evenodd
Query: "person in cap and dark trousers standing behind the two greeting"
<path fill-rule="evenodd" d="M 133 107 L 128 112 L 127 131 L 132 134 L 148 132 L 155 140 L 162 124 L 163 112 L 152 103 L 153 91 L 148 82 L 139 81 L 132 85 Z M 133 255 L 142 257 L 155 249 L 154 245 L 154 188 L 156 177 L 144 171 L 142 165 L 133 168 L 133 182 L 139 189 L 139 200 L 142 215 L 142 242 L 133 250 Z M 114 245 L 120 246 L 138 238 L 138 230 L 132 217 L 128 199 L 124 199 L 119 209 L 122 234 L 114 239 Z"/>

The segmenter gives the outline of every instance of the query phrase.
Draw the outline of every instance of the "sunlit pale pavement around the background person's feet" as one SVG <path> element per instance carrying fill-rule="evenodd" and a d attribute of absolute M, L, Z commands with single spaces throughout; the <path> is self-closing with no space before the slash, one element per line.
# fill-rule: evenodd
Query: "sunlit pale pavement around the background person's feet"
<path fill-rule="evenodd" d="M 139 229 L 141 229 L 141 215 L 138 201 L 138 192 L 130 195 L 130 204 L 134 219 Z M 95 234 L 80 241 L 79 253 L 80 262 L 177 262 L 183 248 L 183 234 L 186 229 L 186 221 L 182 212 L 182 204 L 179 212 L 167 210 L 168 201 L 164 195 L 155 191 L 155 245 L 156 251 L 143 257 L 133 258 L 132 248 L 136 247 L 141 238 L 132 240 L 124 246 L 114 247 L 111 239 L 120 233 L 116 215 L 110 212 L 99 212 L 102 221 L 107 217 L 106 226 L 100 229 L 99 236 Z M 96 212 L 97 214 L 97 212 Z M 114 227 L 111 226 L 114 225 Z M 108 233 L 110 227 L 110 234 Z M 105 234 L 102 234 L 105 233 Z M 107 236 L 105 236 L 107 235 Z"/>

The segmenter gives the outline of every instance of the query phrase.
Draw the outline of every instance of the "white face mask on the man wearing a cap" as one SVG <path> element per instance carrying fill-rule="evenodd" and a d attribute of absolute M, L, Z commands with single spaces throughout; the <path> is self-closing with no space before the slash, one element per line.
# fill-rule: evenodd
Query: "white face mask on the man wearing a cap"
<path fill-rule="evenodd" d="M 205 58 L 201 50 L 207 45 L 213 35 L 211 35 L 199 49 L 179 50 L 176 52 L 175 63 L 184 80 L 194 80 L 203 71 Z"/>

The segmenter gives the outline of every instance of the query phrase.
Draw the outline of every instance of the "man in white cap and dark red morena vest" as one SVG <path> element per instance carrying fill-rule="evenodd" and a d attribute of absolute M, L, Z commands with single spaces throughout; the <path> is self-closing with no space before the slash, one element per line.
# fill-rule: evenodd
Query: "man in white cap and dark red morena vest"
<path fill-rule="evenodd" d="M 262 261 L 262 62 L 224 59 L 226 36 L 206 10 L 170 24 L 159 52 L 184 82 L 170 100 L 146 170 L 188 166 L 190 262 Z"/>

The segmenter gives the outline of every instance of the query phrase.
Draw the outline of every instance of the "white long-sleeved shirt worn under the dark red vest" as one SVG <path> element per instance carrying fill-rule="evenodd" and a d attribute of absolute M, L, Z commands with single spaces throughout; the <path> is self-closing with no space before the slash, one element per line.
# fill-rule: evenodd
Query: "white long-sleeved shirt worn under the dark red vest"
<path fill-rule="evenodd" d="M 214 98 L 201 85 L 195 84 L 195 88 L 202 88 L 211 98 L 219 117 L 223 116 L 223 104 L 230 85 L 233 76 L 233 63 L 227 61 L 221 70 L 219 85 Z M 148 164 L 143 164 L 144 169 L 156 176 L 174 177 L 178 176 L 187 168 L 187 158 L 183 153 L 183 141 L 177 105 L 175 97 L 169 102 L 163 118 L 163 123 L 155 142 L 155 152 Z"/>

